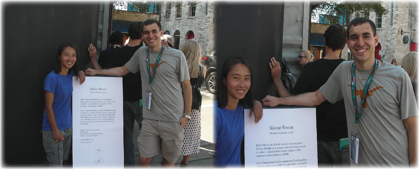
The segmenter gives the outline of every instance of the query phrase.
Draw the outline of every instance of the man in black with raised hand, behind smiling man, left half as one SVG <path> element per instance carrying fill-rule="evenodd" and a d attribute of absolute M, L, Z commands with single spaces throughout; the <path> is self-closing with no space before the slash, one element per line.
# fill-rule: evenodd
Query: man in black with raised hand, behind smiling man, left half
<path fill-rule="evenodd" d="M 132 55 L 142 47 L 142 21 L 131 23 L 128 27 L 129 42 L 124 47 L 116 49 L 114 56 L 108 61 L 105 69 L 124 66 Z M 89 46 L 89 56 L 93 68 L 102 70 L 96 61 L 96 48 Z M 134 123 L 137 121 L 141 129 L 142 124 L 142 85 L 141 73 L 127 72 L 122 77 L 122 88 L 124 97 L 124 165 L 134 166 L 134 142 L 132 135 L 134 132 Z"/>

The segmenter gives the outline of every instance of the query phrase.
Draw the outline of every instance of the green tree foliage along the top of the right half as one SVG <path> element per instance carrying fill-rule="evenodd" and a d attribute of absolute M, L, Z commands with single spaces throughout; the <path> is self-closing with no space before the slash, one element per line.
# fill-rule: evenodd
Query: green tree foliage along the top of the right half
<path fill-rule="evenodd" d="M 370 11 L 374 11 L 379 15 L 384 15 L 388 12 L 382 5 L 382 1 L 311 1 L 311 16 L 315 17 L 318 14 L 326 14 L 325 17 L 330 24 L 339 23 L 339 17 L 349 16 L 352 13 L 358 12 L 364 17 L 370 16 Z"/>

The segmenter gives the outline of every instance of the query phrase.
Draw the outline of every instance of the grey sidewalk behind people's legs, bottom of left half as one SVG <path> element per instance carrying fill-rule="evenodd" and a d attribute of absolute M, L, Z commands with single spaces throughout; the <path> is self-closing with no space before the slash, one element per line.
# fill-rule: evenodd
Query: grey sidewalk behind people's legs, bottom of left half
<path fill-rule="evenodd" d="M 214 166 L 214 156 L 209 154 L 208 152 L 214 154 L 214 144 L 209 143 L 207 141 L 201 140 L 201 149 L 199 150 L 199 153 L 192 154 L 191 158 L 189 159 L 189 165 L 188 167 L 191 168 L 199 168 L 199 167 L 213 167 Z M 140 154 L 135 153 L 135 164 L 138 165 L 138 162 L 140 160 Z M 183 156 L 179 156 L 178 160 L 176 161 L 175 168 L 180 166 L 180 163 L 183 159 Z M 163 161 L 161 152 L 154 156 L 153 162 L 151 164 L 151 167 L 159 167 L 160 163 Z"/>

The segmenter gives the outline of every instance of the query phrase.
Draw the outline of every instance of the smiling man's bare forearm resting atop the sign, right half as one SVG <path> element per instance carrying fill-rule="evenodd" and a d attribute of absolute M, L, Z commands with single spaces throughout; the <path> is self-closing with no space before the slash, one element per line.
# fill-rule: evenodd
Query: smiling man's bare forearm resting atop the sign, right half
<path fill-rule="evenodd" d="M 315 92 L 299 94 L 296 96 L 288 96 L 277 98 L 274 96 L 266 96 L 263 100 L 264 106 L 274 107 L 277 105 L 294 105 L 294 106 L 317 106 L 326 101 L 320 89 Z"/>

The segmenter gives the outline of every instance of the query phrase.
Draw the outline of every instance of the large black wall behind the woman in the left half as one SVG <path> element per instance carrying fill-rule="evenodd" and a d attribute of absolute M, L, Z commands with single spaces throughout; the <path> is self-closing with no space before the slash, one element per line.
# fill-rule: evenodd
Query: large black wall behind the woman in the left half
<path fill-rule="evenodd" d="M 3 4 L 2 161 L 5 165 L 45 163 L 42 119 L 44 80 L 63 42 L 78 50 L 85 68 L 88 44 L 96 46 L 99 3 Z"/>

